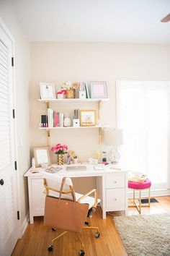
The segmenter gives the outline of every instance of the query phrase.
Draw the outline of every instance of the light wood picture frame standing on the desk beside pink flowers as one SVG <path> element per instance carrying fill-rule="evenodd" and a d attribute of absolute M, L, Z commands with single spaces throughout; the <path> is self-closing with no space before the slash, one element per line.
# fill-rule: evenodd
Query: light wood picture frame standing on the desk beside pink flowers
<path fill-rule="evenodd" d="M 42 163 L 50 164 L 48 147 L 34 148 L 35 167 L 40 167 Z"/>

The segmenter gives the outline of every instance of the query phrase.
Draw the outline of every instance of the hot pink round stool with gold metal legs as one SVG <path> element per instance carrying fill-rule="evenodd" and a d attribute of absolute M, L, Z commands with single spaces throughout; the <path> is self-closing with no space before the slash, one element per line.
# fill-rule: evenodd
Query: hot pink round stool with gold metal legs
<path fill-rule="evenodd" d="M 150 207 L 150 188 L 151 188 L 150 179 L 146 179 L 146 181 L 143 183 L 128 181 L 128 188 L 133 189 L 133 203 L 135 204 L 135 205 L 129 205 L 128 207 L 136 207 L 139 213 L 141 213 L 141 207 Z M 148 189 L 148 205 L 141 205 L 141 191 L 143 189 Z M 135 190 L 139 190 L 139 204 L 135 202 Z"/>

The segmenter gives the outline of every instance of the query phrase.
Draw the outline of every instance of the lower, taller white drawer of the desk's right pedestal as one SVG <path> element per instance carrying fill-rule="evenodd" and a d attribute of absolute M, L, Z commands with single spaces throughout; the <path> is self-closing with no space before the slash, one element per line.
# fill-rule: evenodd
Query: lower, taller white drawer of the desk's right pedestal
<path fill-rule="evenodd" d="M 125 189 L 106 189 L 107 211 L 125 210 Z"/>

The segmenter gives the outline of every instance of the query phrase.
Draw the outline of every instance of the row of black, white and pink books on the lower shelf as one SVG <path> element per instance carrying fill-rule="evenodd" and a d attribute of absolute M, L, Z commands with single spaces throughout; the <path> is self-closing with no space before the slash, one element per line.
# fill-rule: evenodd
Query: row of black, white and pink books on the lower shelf
<path fill-rule="evenodd" d="M 63 113 L 48 108 L 48 115 L 41 115 L 41 127 L 63 127 Z"/>

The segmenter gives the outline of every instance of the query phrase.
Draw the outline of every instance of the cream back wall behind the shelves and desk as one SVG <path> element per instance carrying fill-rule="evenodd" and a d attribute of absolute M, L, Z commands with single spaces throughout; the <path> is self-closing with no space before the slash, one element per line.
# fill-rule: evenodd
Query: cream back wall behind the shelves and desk
<path fill-rule="evenodd" d="M 103 104 L 103 119 L 115 126 L 116 80 L 170 80 L 170 46 L 133 43 L 31 43 L 30 120 L 32 147 L 47 145 L 45 131 L 37 129 L 45 104 L 38 103 L 40 82 L 52 82 L 59 88 L 65 80 L 107 81 L 110 101 Z M 73 108 L 96 108 L 95 104 L 55 104 L 54 109 L 71 114 Z M 68 132 L 69 131 L 69 132 Z M 83 159 L 94 157 L 98 145 L 97 130 L 73 129 L 51 132 L 51 145 L 66 143 Z M 53 155 L 53 162 L 56 157 Z M 76 187 L 80 192 L 95 186 L 95 179 L 85 179 Z"/>

